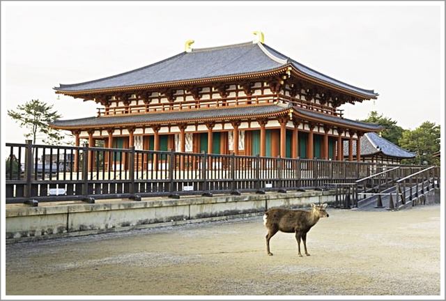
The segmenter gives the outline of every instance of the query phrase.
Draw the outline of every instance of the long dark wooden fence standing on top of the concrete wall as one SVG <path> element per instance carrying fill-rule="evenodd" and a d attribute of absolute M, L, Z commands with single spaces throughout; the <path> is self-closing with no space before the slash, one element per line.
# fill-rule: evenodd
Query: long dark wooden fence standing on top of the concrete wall
<path fill-rule="evenodd" d="M 6 144 L 6 203 L 298 190 L 355 183 L 397 164 L 134 148 Z"/>

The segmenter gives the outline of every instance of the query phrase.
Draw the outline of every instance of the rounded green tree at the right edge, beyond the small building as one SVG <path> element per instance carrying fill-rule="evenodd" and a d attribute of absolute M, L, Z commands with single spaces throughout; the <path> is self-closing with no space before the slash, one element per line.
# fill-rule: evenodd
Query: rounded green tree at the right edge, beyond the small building
<path fill-rule="evenodd" d="M 424 121 L 415 130 L 404 130 L 399 143 L 402 148 L 416 153 L 415 163 L 417 164 L 440 164 L 433 153 L 440 151 L 440 125 Z"/>

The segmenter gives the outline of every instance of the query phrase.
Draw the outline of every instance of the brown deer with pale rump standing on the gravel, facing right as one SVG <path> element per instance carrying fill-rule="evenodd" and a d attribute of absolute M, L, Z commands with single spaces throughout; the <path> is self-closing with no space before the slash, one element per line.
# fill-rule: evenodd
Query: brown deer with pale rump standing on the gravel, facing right
<path fill-rule="evenodd" d="M 295 239 L 298 241 L 298 255 L 300 254 L 300 238 L 304 242 L 305 255 L 307 252 L 307 232 L 312 229 L 320 217 L 328 217 L 325 211 L 327 204 L 312 204 L 311 211 L 289 210 L 289 209 L 270 209 L 263 215 L 263 224 L 268 229 L 266 234 L 266 252 L 272 256 L 270 252 L 270 239 L 277 233 L 282 231 L 285 233 L 295 233 Z"/>

